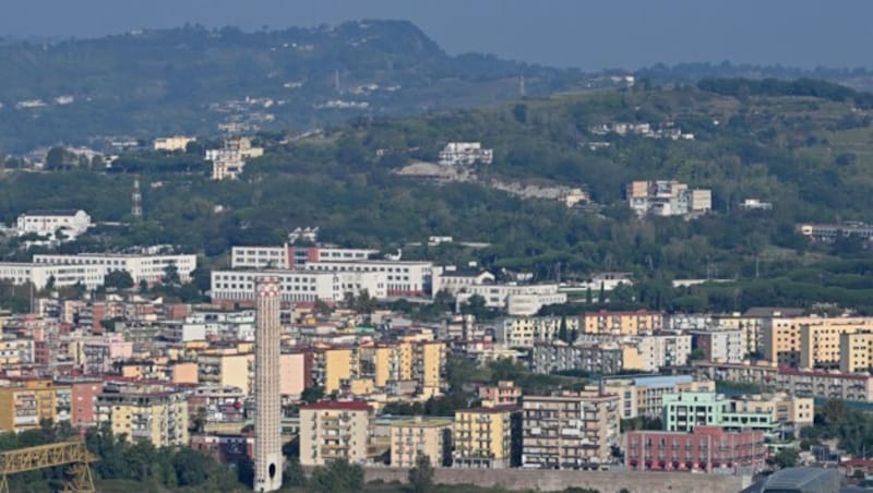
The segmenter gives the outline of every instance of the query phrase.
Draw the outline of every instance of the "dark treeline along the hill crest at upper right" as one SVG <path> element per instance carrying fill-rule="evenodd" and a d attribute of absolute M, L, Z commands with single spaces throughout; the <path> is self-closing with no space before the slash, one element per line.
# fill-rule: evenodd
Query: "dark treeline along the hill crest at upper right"
<path fill-rule="evenodd" d="M 697 88 L 723 96 L 809 96 L 839 103 L 852 103 L 862 109 L 873 108 L 873 94 L 815 79 L 703 79 Z"/>

